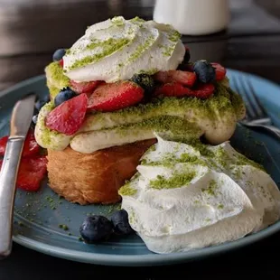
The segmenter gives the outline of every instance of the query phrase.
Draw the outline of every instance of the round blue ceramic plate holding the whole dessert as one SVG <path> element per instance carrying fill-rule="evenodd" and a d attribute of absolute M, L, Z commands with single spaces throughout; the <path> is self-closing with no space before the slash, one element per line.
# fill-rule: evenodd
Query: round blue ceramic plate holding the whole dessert
<path fill-rule="evenodd" d="M 245 79 L 251 79 L 258 96 L 273 117 L 275 125 L 280 127 L 280 88 L 266 79 L 236 70 L 228 70 L 228 74 L 229 79 L 233 75 L 242 75 Z M 45 77 L 28 79 L 11 89 L 0 92 L 0 136 L 8 134 L 12 107 L 16 100 L 28 91 L 35 91 L 39 96 L 48 94 Z M 231 144 L 243 153 L 247 151 L 245 154 L 257 162 L 262 160 L 266 170 L 280 187 L 278 167 L 280 166 L 280 143 L 273 136 L 248 131 L 238 126 Z M 141 238 L 136 235 L 112 239 L 99 245 L 87 245 L 79 241 L 79 225 L 86 215 L 100 213 L 109 217 L 114 210 L 115 207 L 112 206 L 71 204 L 51 191 L 46 180 L 39 192 L 17 191 L 14 209 L 14 241 L 45 254 L 79 262 L 110 266 L 154 266 L 210 257 L 249 245 L 280 229 L 279 221 L 267 229 L 238 241 L 169 255 L 157 255 L 150 252 Z M 61 225 L 66 225 L 68 230 L 62 229 Z"/>

